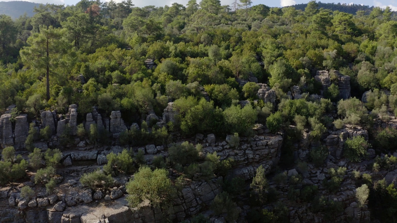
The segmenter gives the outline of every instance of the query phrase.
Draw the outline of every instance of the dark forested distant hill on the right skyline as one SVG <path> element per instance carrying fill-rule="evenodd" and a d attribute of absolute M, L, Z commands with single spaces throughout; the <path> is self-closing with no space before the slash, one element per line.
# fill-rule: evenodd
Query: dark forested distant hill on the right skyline
<path fill-rule="evenodd" d="M 369 7 L 369 6 L 362 6 L 357 4 L 347 5 L 340 3 L 335 4 L 335 3 L 322 3 L 322 2 L 317 2 L 317 4 L 319 9 L 325 8 L 332 11 L 339 10 L 339 12 L 351 13 L 353 15 L 355 15 L 356 12 L 359 10 L 366 11 L 369 13 L 374 8 L 374 6 Z M 306 8 L 306 6 L 307 4 L 297 4 L 297 5 L 293 5 L 292 7 L 294 7 L 296 10 L 304 11 L 304 8 Z"/>

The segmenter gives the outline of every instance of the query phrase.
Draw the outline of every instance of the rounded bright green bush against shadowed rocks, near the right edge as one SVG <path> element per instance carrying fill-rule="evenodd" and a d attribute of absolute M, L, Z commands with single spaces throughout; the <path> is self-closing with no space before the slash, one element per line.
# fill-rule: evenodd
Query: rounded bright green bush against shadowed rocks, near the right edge
<path fill-rule="evenodd" d="M 355 136 L 352 139 L 348 138 L 345 142 L 344 155 L 353 162 L 359 162 L 367 154 L 367 149 L 370 148 L 364 137 Z"/>

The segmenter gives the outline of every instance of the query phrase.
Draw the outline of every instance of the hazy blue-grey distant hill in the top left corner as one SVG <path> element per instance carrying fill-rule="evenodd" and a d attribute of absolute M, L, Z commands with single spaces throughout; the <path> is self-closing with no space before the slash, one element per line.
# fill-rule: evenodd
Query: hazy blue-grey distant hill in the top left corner
<path fill-rule="evenodd" d="M 39 7 L 39 5 L 38 3 L 25 1 L 0 2 L 0 15 L 5 14 L 16 19 L 26 12 L 27 16 L 32 17 L 35 14 L 33 8 Z"/>

